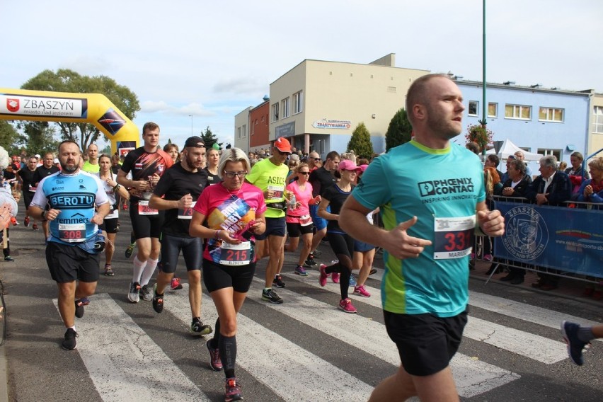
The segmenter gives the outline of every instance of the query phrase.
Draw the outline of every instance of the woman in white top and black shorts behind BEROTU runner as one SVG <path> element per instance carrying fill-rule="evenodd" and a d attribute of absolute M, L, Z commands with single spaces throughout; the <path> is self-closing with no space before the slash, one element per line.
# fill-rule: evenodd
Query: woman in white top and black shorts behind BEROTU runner
<path fill-rule="evenodd" d="M 103 224 L 100 228 L 107 233 L 107 244 L 105 245 L 105 275 L 114 276 L 113 266 L 113 253 L 115 252 L 115 238 L 117 237 L 117 220 L 120 217 L 120 206 L 117 201 L 117 196 L 127 200 L 130 194 L 127 192 L 125 187 L 118 184 L 111 171 L 111 158 L 108 155 L 101 155 L 98 158 L 98 178 L 103 183 L 103 189 L 109 197 L 109 214 L 105 217 Z"/>

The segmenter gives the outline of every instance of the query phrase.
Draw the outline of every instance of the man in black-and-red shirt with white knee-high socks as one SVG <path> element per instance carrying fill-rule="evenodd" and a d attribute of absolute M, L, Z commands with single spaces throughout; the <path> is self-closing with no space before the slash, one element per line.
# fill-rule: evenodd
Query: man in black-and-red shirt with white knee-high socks
<path fill-rule="evenodd" d="M 142 140 L 144 145 L 127 154 L 120 173 L 117 173 L 117 183 L 132 189 L 130 219 L 138 248 L 127 295 L 132 303 L 138 303 L 141 295 L 147 302 L 153 299 L 149 281 L 159 262 L 159 234 L 163 225 L 163 211 L 149 207 L 149 199 L 159 178 L 172 166 L 171 157 L 158 146 L 159 125 L 154 122 L 145 123 L 142 127 Z M 130 171 L 132 180 L 126 177 Z"/>

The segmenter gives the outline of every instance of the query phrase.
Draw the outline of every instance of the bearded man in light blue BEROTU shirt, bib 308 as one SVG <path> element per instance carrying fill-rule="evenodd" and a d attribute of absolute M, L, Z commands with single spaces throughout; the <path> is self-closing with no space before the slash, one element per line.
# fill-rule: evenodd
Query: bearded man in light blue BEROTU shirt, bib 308
<path fill-rule="evenodd" d="M 81 299 L 96 290 L 99 253 L 104 248 L 96 244 L 98 225 L 110 204 L 101 180 L 80 170 L 78 144 L 62 142 L 59 161 L 62 171 L 40 181 L 29 213 L 33 219 L 50 222 L 46 262 L 59 287 L 59 312 L 67 328 L 62 347 L 74 350 L 78 336 L 74 317 L 84 316 Z"/>

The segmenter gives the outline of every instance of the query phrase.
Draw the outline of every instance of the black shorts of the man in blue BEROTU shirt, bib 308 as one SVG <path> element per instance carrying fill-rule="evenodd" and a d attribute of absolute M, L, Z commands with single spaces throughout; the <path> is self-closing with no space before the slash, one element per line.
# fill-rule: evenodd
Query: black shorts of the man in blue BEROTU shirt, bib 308
<path fill-rule="evenodd" d="M 49 241 L 46 246 L 46 263 L 52 280 L 67 283 L 98 281 L 99 254 L 86 253 L 78 246 L 66 246 Z"/>

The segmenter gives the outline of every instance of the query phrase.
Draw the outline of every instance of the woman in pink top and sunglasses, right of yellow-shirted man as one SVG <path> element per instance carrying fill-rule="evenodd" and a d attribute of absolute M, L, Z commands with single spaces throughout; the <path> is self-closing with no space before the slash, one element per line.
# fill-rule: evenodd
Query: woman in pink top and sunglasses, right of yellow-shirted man
<path fill-rule="evenodd" d="M 287 234 L 289 234 L 287 251 L 297 250 L 299 236 L 301 235 L 304 247 L 299 253 L 295 273 L 297 275 L 308 276 L 308 272 L 306 272 L 302 264 L 308 258 L 312 246 L 312 231 L 314 226 L 312 224 L 312 217 L 310 216 L 309 205 L 320 202 L 321 196 L 312 197 L 312 185 L 308 182 L 310 167 L 307 163 L 300 163 L 294 172 L 297 180 L 287 185 L 289 194 L 292 194 L 296 201 L 294 204 L 289 203 L 287 207 L 287 218 L 285 219 L 285 222 L 287 222 Z"/>

